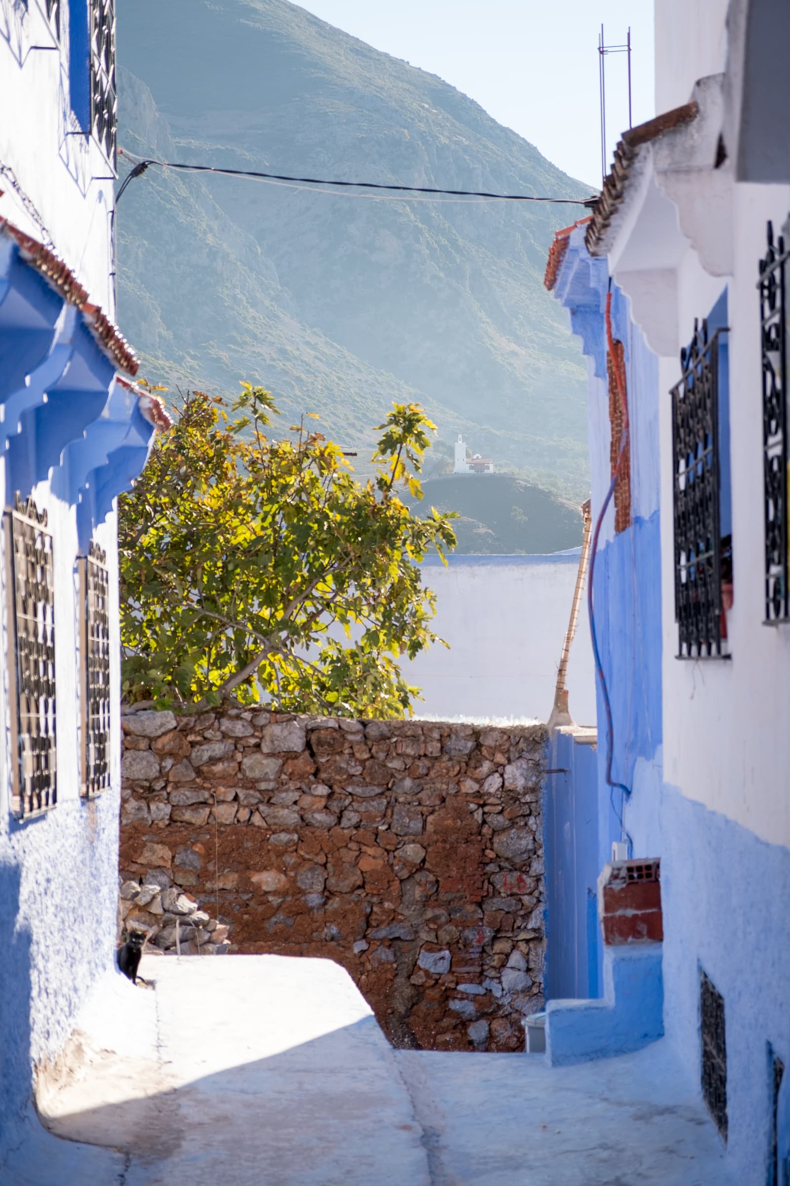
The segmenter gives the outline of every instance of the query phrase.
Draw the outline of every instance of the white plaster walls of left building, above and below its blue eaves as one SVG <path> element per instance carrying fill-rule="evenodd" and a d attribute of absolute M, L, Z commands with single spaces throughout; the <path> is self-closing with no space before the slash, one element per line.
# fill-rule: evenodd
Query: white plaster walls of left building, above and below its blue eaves
<path fill-rule="evenodd" d="M 76 273 L 89 300 L 114 318 L 114 208 L 110 170 L 98 146 L 72 135 L 69 95 L 69 5 L 63 2 L 60 45 L 38 0 L 0 0 L 0 217 L 46 242 Z M 85 21 L 88 9 L 84 8 Z M 14 180 L 18 190 L 14 189 Z M 24 195 L 24 196 L 23 196 Z M 34 211 L 25 204 L 25 197 Z M 37 217 L 38 215 L 38 217 Z M 44 227 L 41 225 L 44 224 Z M 50 244 L 47 244 L 50 246 Z M 6 337 L 7 342 L 7 337 Z M 77 397 L 77 396 L 76 396 Z M 8 426 L 6 426 L 6 432 Z M 21 434 L 37 432 L 32 416 Z M 101 451 L 96 461 L 104 460 Z M 7 505 L 5 458 L 1 500 Z M 34 1131 L 33 1067 L 57 1057 L 88 994 L 114 968 L 120 809 L 120 637 L 110 614 L 111 788 L 86 802 L 79 795 L 79 656 L 76 506 L 59 470 L 32 495 L 47 511 L 53 536 L 57 682 L 57 806 L 23 823 L 11 815 L 7 623 L 12 591 L 0 563 L 0 1162 Z M 27 493 L 27 491 L 25 491 Z M 94 533 L 105 549 L 110 595 L 117 606 L 115 512 Z M 6 540 L 0 537 L 0 560 Z M 13 1171 L 11 1177 L 14 1178 Z M 66 1174 L 68 1177 L 68 1174 Z M 0 1178 L 5 1181 L 2 1173 Z M 18 1180 L 14 1178 L 14 1180 Z"/>

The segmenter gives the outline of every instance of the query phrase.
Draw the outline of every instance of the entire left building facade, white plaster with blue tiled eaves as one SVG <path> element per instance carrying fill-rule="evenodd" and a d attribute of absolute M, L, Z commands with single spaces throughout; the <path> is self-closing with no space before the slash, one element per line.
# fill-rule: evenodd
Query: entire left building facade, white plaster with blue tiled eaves
<path fill-rule="evenodd" d="M 8 580 L 9 534 L 0 537 L 0 1179 L 21 1135 L 37 1129 L 36 1076 L 64 1048 L 79 1009 L 103 974 L 115 970 L 120 809 L 120 631 L 116 496 L 142 468 L 153 440 L 150 400 L 128 382 L 136 359 L 111 324 L 114 161 L 91 132 L 91 28 L 109 40 L 110 0 L 0 0 L 0 491 L 7 511 L 34 499 L 52 537 L 52 640 L 41 630 L 40 594 L 25 589 L 30 627 L 19 653 L 30 700 L 54 701 L 56 767 L 49 738 L 31 713 L 25 764 L 13 745 L 18 697 L 17 601 Z M 79 49 L 71 52 L 73 44 Z M 99 38 L 95 38 L 98 44 Z M 103 59 L 107 60 L 107 59 Z M 98 100 L 101 88 L 96 88 Z M 76 96 L 79 95 L 79 102 Z M 101 96 L 102 98 L 105 96 Z M 111 95 L 109 96 L 111 104 Z M 84 126 L 75 115 L 75 103 Z M 109 319 L 109 320 L 108 320 Z M 120 383 L 118 371 L 127 378 Z M 148 409 L 148 410 L 146 410 Z M 4 521 L 7 522 L 7 515 Z M 4 528 L 5 528 L 4 522 Z M 96 725 L 92 766 L 101 793 L 82 785 L 82 709 L 89 702 L 79 631 L 86 602 L 79 563 L 90 546 L 107 556 L 109 727 Z M 49 595 L 49 594 L 47 594 Z M 94 618 L 97 631 L 104 623 Z M 32 637 L 34 636 L 34 637 Z M 36 650 L 36 648 L 41 648 Z M 40 656 L 44 655 L 44 658 Z M 21 661 L 20 661 L 21 665 Z M 44 676 L 41 677 L 41 670 Z M 38 683 L 37 683 L 38 680 Z M 23 683 L 23 680 L 19 681 Z M 41 687 L 46 683 L 47 690 Z M 95 689 L 94 689 L 95 690 Z M 40 713 L 40 709 L 39 709 Z M 47 720 L 52 713 L 47 708 Z M 51 737 L 51 733 L 49 734 Z M 37 745 L 46 758 L 37 765 Z M 109 744 L 109 772 L 102 747 Z M 38 771 L 38 773 L 36 773 Z M 41 773 L 41 771 L 44 771 Z M 14 774 L 33 786 L 14 798 Z M 37 801 L 36 783 L 46 789 Z M 57 780 L 57 802 L 52 802 Z M 49 795 L 49 802 L 46 796 Z M 68 1175 L 66 1175 L 68 1177 Z M 33 1180 L 33 1179 L 30 1179 Z"/>

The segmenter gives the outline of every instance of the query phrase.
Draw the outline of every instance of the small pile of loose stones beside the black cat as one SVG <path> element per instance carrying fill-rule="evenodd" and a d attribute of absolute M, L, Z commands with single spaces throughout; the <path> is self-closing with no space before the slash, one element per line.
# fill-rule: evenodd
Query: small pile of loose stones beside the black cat
<path fill-rule="evenodd" d="M 210 918 L 178 886 L 121 881 L 118 929 L 142 931 L 162 955 L 219 956 L 230 948 L 230 926 Z"/>

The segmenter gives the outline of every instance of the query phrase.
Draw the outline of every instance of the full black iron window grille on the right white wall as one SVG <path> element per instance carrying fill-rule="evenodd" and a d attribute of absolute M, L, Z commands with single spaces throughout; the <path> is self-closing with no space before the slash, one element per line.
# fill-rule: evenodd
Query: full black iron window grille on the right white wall
<path fill-rule="evenodd" d="M 675 620 L 677 658 L 728 658 L 725 589 L 732 589 L 732 540 L 721 538 L 719 340 L 707 320 L 680 352 L 672 389 Z M 722 589 L 722 586 L 725 587 Z"/>

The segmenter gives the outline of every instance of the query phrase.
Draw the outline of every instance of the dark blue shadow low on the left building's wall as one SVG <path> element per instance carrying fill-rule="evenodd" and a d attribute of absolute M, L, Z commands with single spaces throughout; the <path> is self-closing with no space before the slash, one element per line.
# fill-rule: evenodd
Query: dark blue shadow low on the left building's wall
<path fill-rule="evenodd" d="M 20 881 L 19 866 L 0 865 L 0 1178 L 33 1098 L 32 939 L 27 927 L 18 925 Z"/>

